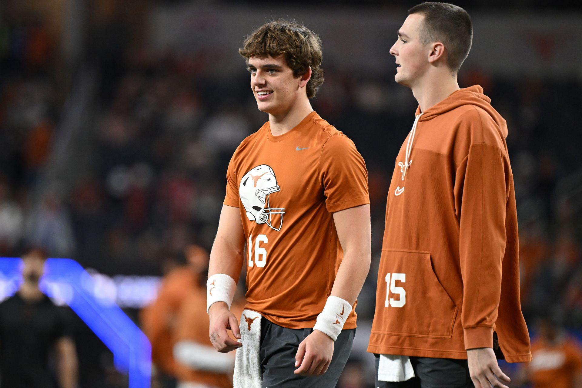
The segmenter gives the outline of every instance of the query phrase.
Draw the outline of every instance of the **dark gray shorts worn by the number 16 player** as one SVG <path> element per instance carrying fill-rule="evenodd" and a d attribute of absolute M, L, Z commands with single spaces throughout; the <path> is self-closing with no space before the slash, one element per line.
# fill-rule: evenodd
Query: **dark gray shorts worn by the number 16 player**
<path fill-rule="evenodd" d="M 333 344 L 333 357 L 321 376 L 295 375 L 297 348 L 313 329 L 288 329 L 261 318 L 263 388 L 335 388 L 352 351 L 356 329 L 343 330 Z"/>

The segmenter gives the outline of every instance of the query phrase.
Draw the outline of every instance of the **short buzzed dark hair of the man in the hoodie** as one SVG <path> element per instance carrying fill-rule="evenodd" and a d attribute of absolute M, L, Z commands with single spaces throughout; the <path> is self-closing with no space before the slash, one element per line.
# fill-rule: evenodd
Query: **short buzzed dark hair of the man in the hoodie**
<path fill-rule="evenodd" d="M 446 64 L 457 73 L 473 43 L 473 23 L 469 13 L 449 3 L 424 2 L 408 10 L 424 16 L 420 43 L 441 42 L 447 52 Z"/>

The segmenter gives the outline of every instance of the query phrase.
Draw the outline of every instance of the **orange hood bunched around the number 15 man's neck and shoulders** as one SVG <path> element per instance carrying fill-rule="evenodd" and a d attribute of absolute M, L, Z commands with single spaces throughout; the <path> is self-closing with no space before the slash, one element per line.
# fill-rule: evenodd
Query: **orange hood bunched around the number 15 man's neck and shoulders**
<path fill-rule="evenodd" d="M 483 94 L 483 88 L 479 85 L 459 89 L 450 94 L 440 103 L 428 108 L 425 112 L 420 111 L 420 105 L 416 108 L 416 115 L 423 113 L 420 121 L 429 121 L 438 115 L 445 114 L 463 105 L 475 105 L 481 108 L 495 121 L 499 132 L 503 137 L 508 136 L 508 127 L 505 119 L 491 106 L 491 98 Z"/>

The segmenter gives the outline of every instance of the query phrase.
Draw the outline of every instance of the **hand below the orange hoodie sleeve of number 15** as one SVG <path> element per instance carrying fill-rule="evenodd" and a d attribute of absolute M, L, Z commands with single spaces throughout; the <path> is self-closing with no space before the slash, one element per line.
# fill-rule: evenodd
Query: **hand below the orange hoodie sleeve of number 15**
<path fill-rule="evenodd" d="M 509 383 L 511 379 L 499 368 L 492 348 L 467 350 L 467 361 L 475 388 L 509 388 L 503 383 Z"/>

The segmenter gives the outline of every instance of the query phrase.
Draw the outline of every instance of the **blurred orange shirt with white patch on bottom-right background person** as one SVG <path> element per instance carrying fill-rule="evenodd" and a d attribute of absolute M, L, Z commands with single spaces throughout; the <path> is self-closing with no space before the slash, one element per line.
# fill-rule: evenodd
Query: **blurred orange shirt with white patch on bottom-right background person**
<path fill-rule="evenodd" d="M 582 373 L 582 351 L 572 341 L 531 345 L 534 359 L 527 365 L 534 388 L 573 388 L 574 376 Z"/>

